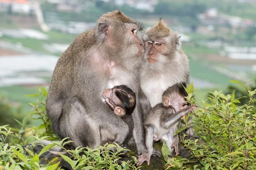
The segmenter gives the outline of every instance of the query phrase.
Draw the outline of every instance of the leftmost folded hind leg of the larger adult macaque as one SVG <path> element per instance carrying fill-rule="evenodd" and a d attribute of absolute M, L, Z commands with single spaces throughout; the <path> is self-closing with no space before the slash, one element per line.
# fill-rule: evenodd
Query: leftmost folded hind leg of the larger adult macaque
<path fill-rule="evenodd" d="M 62 139 L 70 137 L 73 147 L 95 148 L 100 144 L 100 130 L 97 122 L 88 114 L 86 106 L 78 97 L 72 97 L 64 105 L 59 119 L 57 135 Z M 97 114 L 95 114 L 97 115 Z"/>

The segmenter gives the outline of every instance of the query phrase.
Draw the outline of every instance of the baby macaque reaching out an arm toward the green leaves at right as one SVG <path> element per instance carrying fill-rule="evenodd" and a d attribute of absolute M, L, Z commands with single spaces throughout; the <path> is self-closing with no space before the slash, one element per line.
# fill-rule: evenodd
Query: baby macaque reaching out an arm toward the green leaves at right
<path fill-rule="evenodd" d="M 197 106 L 189 106 L 184 98 L 187 93 L 181 84 L 175 84 L 163 92 L 163 103 L 155 105 L 145 115 L 145 143 L 147 153 L 138 156 L 137 165 L 141 165 L 144 161 L 150 163 L 150 157 L 153 153 L 153 141 L 164 139 L 171 153 L 175 151 L 178 155 L 179 138 L 174 136 L 175 131 L 182 116 L 197 108 Z"/>

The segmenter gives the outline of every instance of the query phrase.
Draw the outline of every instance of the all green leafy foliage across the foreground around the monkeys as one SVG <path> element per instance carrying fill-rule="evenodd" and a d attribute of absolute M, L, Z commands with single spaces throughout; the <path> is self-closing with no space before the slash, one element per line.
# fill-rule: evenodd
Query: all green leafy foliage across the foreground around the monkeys
<path fill-rule="evenodd" d="M 189 94 L 187 101 L 199 106 L 197 111 L 189 114 L 193 116 L 195 133 L 199 139 L 186 139 L 186 136 L 180 133 L 184 127 L 177 130 L 176 133 L 179 133 L 181 139 L 180 145 L 189 150 L 189 158 L 168 156 L 169 149 L 163 142 L 161 159 L 165 166 L 161 169 L 256 169 L 256 89 L 250 91 L 250 88 L 239 81 L 232 82 L 241 85 L 247 96 L 236 98 L 235 91 L 227 95 L 214 91 L 210 92 L 208 100 L 196 103 L 193 97 L 193 83 L 186 88 Z M 0 170 L 65 169 L 67 167 L 64 167 L 63 161 L 73 170 L 151 169 L 151 166 L 145 163 L 136 167 L 136 154 L 132 156 L 132 151 L 121 148 L 118 144 L 105 144 L 96 149 L 78 147 L 76 150 L 66 150 L 64 145 L 71 141 L 63 139 L 45 147 L 41 146 L 43 139 L 58 140 L 52 132 L 45 110 L 47 91 L 41 87 L 38 94 L 28 96 L 39 99 L 35 103 L 29 103 L 34 109 L 22 122 L 16 120 L 20 129 L 10 128 L 8 125 L 0 126 Z M 29 117 L 40 119 L 41 125 L 29 127 Z M 41 149 L 38 150 L 38 146 Z M 53 147 L 61 147 L 67 154 L 52 156 L 49 159 L 47 154 L 52 153 L 48 150 Z M 116 152 L 110 149 L 112 147 L 116 147 Z M 125 155 L 128 159 L 125 159 Z M 157 162 L 152 161 L 151 164 Z"/>

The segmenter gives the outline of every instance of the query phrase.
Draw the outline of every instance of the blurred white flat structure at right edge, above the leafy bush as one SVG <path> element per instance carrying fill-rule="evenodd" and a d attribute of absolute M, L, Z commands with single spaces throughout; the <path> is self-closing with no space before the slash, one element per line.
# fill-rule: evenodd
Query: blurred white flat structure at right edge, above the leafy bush
<path fill-rule="evenodd" d="M 256 47 L 224 46 L 224 51 L 232 59 L 256 59 Z"/>

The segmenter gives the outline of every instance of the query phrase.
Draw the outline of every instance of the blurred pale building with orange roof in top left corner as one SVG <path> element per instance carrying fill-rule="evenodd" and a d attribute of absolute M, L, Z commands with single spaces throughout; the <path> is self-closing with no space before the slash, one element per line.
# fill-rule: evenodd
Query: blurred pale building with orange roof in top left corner
<path fill-rule="evenodd" d="M 29 14 L 31 11 L 31 5 L 28 0 L 0 0 L 0 10 Z"/>

